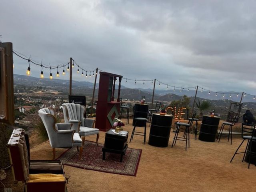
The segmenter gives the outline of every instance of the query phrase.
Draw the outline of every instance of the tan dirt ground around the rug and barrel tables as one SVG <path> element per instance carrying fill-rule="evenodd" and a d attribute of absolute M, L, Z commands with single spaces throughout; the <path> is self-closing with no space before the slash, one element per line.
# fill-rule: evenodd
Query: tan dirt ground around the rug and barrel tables
<path fill-rule="evenodd" d="M 221 126 L 221 123 L 220 123 Z M 219 128 L 220 128 L 219 126 Z M 132 133 L 132 119 L 125 125 L 124 130 L 129 131 L 129 140 Z M 143 130 L 144 128 L 136 128 Z M 239 129 L 239 125 L 238 125 Z M 232 145 L 226 138 L 220 142 L 203 142 L 194 140 L 190 134 L 190 148 L 185 151 L 185 142 L 177 141 L 173 148 L 174 132 L 171 131 L 169 145 L 166 148 L 158 148 L 148 144 L 150 127 L 147 126 L 146 143 L 143 137 L 135 135 L 130 148 L 142 149 L 142 156 L 136 177 L 124 176 L 83 170 L 70 166 L 64 166 L 68 180 L 69 192 L 255 192 L 256 183 L 253 175 L 256 167 L 242 162 L 242 154 L 236 155 L 230 163 L 236 148 L 242 141 L 234 138 Z M 100 132 L 99 142 L 104 143 L 105 132 Z M 36 144 L 36 137 L 32 139 L 34 146 L 31 148 L 31 159 L 51 159 L 52 148 L 49 142 Z M 86 140 L 96 141 L 96 136 L 88 136 Z M 244 148 L 243 148 L 244 149 Z M 57 148 L 56 156 L 66 149 Z M 10 170 L 8 171 L 10 175 Z M 8 180 L 11 180 L 11 176 Z M 3 180 L 5 182 L 5 180 Z M 22 184 L 12 184 L 13 192 L 23 191 Z"/>

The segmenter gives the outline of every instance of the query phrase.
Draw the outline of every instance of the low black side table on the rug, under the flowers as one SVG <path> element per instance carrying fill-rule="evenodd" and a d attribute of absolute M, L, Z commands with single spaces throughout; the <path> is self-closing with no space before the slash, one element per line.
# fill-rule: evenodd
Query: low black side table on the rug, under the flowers
<path fill-rule="evenodd" d="M 110 129 L 106 132 L 104 147 L 102 148 L 102 160 L 105 160 L 106 152 L 121 154 L 120 162 L 123 160 L 126 149 L 128 147 L 128 131 L 122 131 L 124 134 L 116 134 L 113 132 L 115 129 Z"/>

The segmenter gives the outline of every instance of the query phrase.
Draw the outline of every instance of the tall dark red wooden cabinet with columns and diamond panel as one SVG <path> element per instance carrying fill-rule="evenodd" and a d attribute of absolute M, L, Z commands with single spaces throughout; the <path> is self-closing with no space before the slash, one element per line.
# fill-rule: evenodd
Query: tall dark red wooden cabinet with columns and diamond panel
<path fill-rule="evenodd" d="M 113 127 L 114 119 L 118 118 L 120 111 L 120 89 L 123 76 L 100 72 L 100 84 L 96 108 L 95 127 L 101 131 L 108 131 Z M 118 96 L 114 99 L 115 83 L 118 78 Z"/>

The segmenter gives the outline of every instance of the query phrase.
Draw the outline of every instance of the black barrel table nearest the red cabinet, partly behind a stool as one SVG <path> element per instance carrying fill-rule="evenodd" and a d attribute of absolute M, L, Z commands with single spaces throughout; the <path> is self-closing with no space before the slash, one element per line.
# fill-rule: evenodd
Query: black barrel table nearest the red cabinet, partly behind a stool
<path fill-rule="evenodd" d="M 148 105 L 142 105 L 142 104 L 135 104 L 133 108 L 133 120 L 132 125 L 135 125 L 135 119 L 141 117 L 141 118 L 148 118 Z M 144 127 L 144 122 L 137 122 L 136 126 L 138 127 Z"/>

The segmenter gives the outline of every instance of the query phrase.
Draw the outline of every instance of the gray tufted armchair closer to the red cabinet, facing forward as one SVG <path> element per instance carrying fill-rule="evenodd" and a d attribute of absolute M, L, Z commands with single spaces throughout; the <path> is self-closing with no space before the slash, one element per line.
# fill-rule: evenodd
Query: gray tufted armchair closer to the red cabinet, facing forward
<path fill-rule="evenodd" d="M 84 118 L 85 106 L 74 103 L 62 104 L 65 123 L 74 124 L 73 128 L 82 136 L 82 145 L 84 145 L 85 136 L 97 134 L 96 143 L 98 145 L 99 129 L 93 128 L 95 120 Z"/>

